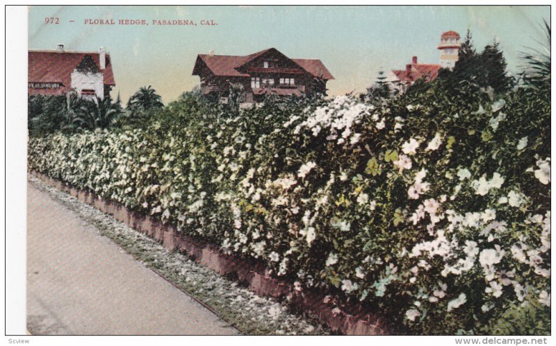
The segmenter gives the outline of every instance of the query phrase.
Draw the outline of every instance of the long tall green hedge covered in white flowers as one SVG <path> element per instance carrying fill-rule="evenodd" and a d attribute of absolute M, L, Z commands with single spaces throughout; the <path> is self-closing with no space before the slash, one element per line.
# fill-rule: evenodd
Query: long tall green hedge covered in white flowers
<path fill-rule="evenodd" d="M 183 94 L 144 128 L 31 138 L 28 164 L 411 334 L 543 334 L 548 94 L 430 87 L 241 112 Z"/>

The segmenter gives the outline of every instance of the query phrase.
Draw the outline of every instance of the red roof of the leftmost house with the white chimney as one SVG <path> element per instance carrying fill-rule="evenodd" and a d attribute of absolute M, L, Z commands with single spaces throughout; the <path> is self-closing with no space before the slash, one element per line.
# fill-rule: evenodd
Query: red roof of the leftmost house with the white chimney
<path fill-rule="evenodd" d="M 68 92 L 72 84 L 72 72 L 85 55 L 90 55 L 97 67 L 100 67 L 99 52 L 28 51 L 27 80 L 29 83 L 62 83 L 65 92 Z M 100 71 L 104 74 L 105 85 L 116 85 L 108 53 L 106 68 Z"/>

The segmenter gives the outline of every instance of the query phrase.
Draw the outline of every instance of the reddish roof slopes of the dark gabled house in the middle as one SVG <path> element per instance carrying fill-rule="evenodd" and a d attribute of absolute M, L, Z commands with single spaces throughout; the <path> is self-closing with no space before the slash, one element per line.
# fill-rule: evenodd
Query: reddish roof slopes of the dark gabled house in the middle
<path fill-rule="evenodd" d="M 250 62 L 254 58 L 270 51 L 270 49 L 265 49 L 250 55 L 209 55 L 209 54 L 199 54 L 197 55 L 198 60 L 202 60 L 208 69 L 214 73 L 215 76 L 229 76 L 229 77 L 249 77 L 249 73 L 242 73 L 237 70 L 238 67 L 243 66 L 247 62 Z M 327 70 L 324 64 L 318 59 L 291 59 L 296 64 L 300 65 L 302 69 L 311 73 L 313 76 L 322 78 L 325 80 L 334 79 L 332 74 Z M 195 62 L 195 68 L 193 69 L 193 75 L 197 75 L 197 62 Z"/>

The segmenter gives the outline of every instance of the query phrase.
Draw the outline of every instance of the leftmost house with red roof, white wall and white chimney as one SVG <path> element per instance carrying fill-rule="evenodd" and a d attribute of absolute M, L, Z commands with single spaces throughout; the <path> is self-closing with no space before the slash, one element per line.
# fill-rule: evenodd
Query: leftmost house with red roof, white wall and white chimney
<path fill-rule="evenodd" d="M 88 69 L 78 69 L 88 63 Z M 110 55 L 66 51 L 63 44 L 50 51 L 28 51 L 28 95 L 65 95 L 74 90 L 83 98 L 104 98 L 115 86 Z"/>

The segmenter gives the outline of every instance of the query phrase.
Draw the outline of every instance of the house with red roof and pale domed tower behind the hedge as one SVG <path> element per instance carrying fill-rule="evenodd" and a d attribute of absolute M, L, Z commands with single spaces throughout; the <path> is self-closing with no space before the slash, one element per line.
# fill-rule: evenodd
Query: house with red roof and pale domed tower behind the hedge
<path fill-rule="evenodd" d="M 417 57 L 411 59 L 411 64 L 405 69 L 392 70 L 388 78 L 391 87 L 405 92 L 416 80 L 424 78 L 425 82 L 436 79 L 440 69 L 453 69 L 458 59 L 459 34 L 455 31 L 446 31 L 441 35 L 440 44 L 436 48 L 441 51 L 439 64 L 420 64 Z"/>

